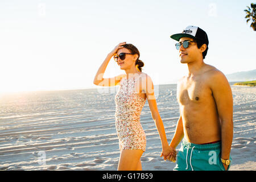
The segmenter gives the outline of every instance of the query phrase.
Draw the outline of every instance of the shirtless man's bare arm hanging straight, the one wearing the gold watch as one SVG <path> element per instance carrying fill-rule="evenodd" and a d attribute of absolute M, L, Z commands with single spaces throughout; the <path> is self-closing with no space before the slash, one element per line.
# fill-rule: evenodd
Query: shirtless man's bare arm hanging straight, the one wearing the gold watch
<path fill-rule="evenodd" d="M 213 97 L 221 120 L 221 158 L 229 159 L 233 140 L 233 96 L 225 75 L 217 71 L 210 81 Z M 228 166 L 225 166 L 227 169 Z"/>

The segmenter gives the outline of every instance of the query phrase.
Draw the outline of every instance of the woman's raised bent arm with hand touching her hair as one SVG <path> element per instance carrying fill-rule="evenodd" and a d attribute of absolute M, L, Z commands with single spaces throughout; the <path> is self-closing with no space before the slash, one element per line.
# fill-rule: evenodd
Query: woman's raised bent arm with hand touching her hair
<path fill-rule="evenodd" d="M 100 68 L 98 69 L 98 72 L 96 73 L 96 76 L 94 77 L 93 84 L 98 85 L 98 86 L 115 86 L 119 83 L 123 75 L 118 75 L 113 78 L 103 78 L 104 73 L 106 71 L 106 67 L 109 64 L 110 59 L 114 54 L 118 51 L 119 48 L 122 48 L 122 46 L 126 44 L 125 42 L 119 43 L 112 52 L 108 54 L 104 62 L 101 64 Z"/>

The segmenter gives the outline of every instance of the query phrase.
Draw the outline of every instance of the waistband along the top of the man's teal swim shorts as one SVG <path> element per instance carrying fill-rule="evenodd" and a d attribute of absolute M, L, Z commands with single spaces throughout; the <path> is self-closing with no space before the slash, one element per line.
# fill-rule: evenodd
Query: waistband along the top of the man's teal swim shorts
<path fill-rule="evenodd" d="M 218 150 L 221 148 L 221 141 L 216 143 L 210 143 L 210 144 L 195 144 L 182 140 L 182 145 L 186 146 L 188 148 L 194 148 L 194 150 Z"/>

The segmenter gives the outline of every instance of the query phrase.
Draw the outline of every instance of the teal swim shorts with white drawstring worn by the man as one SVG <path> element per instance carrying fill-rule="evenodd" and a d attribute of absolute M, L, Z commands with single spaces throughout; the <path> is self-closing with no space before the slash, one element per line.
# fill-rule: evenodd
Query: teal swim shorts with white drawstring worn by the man
<path fill-rule="evenodd" d="M 231 161 L 231 156 L 229 158 Z M 231 163 L 230 163 L 231 164 Z M 230 165 L 228 169 L 230 168 Z M 177 154 L 175 171 L 225 171 L 221 162 L 221 142 L 194 144 L 184 139 Z"/>

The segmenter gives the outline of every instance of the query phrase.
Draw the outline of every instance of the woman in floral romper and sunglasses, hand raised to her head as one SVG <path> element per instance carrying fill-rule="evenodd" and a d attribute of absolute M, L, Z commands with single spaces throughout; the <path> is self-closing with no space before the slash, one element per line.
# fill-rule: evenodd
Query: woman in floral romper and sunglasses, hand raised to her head
<path fill-rule="evenodd" d="M 120 85 L 115 95 L 115 127 L 121 151 L 118 170 L 142 170 L 141 156 L 146 148 L 146 135 L 141 126 L 140 115 L 146 99 L 148 99 L 152 118 L 162 142 L 163 150 L 160 157 L 164 156 L 166 160 L 167 155 L 176 154 L 176 151 L 168 145 L 154 97 L 154 85 L 151 78 L 142 73 L 141 68 L 144 63 L 139 60 L 139 55 L 138 49 L 133 44 L 119 43 L 108 54 L 94 78 L 95 85 Z M 126 74 L 103 78 L 106 67 L 113 56 L 120 69 Z"/>

